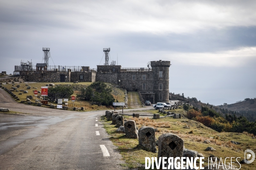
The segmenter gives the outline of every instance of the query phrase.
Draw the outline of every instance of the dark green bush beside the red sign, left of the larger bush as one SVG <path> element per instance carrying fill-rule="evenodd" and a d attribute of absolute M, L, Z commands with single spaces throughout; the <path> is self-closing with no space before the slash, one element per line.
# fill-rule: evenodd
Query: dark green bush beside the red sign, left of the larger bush
<path fill-rule="evenodd" d="M 58 85 L 55 87 L 49 87 L 47 99 L 49 99 L 52 102 L 55 99 L 70 99 L 73 93 L 74 91 L 70 86 Z"/>

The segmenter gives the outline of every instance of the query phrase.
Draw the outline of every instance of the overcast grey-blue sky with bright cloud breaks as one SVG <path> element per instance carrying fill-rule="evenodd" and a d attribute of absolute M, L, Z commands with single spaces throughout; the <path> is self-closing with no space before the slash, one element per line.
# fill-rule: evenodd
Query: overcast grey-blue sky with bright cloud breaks
<path fill-rule="evenodd" d="M 254 0 L 0 0 L 0 71 L 20 61 L 122 67 L 169 60 L 170 91 L 220 105 L 256 97 Z M 102 59 L 102 62 L 101 62 Z"/>

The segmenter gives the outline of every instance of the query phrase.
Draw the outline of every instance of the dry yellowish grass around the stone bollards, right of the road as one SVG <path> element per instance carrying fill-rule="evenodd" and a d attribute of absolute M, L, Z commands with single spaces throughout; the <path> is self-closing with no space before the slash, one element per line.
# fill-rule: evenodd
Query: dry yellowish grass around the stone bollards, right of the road
<path fill-rule="evenodd" d="M 178 109 L 177 109 L 178 110 Z M 177 111 L 174 110 L 173 112 Z M 139 113 L 140 111 L 137 111 Z M 141 111 L 143 113 L 145 111 Z M 148 113 L 158 113 L 158 111 L 147 111 Z M 183 112 L 180 109 L 177 112 Z M 160 114 L 161 115 L 161 114 Z M 126 120 L 134 120 L 138 128 L 149 126 L 157 128 L 155 133 L 156 139 L 164 133 L 174 133 L 180 136 L 184 141 L 184 147 L 196 150 L 198 153 L 202 153 L 205 157 L 204 165 L 208 163 L 208 157 L 215 155 L 218 158 L 224 160 L 226 157 L 240 157 L 241 161 L 244 159 L 244 150 L 250 149 L 256 153 L 256 139 L 252 139 L 252 134 L 248 133 L 218 133 L 209 127 L 204 126 L 200 122 L 196 122 L 189 119 L 149 119 L 148 117 L 141 116 L 141 118 L 132 118 L 132 116 L 125 116 Z M 151 153 L 147 150 L 143 150 L 138 146 L 138 139 L 128 139 L 124 133 L 116 133 L 116 127 L 111 125 L 111 121 L 107 121 L 102 116 L 102 122 L 107 133 L 110 135 L 110 140 L 116 145 L 122 155 L 122 159 L 126 162 L 125 165 L 129 168 L 145 169 L 145 157 L 157 157 L 157 153 Z M 205 140 L 209 140 L 211 143 L 204 143 Z M 240 142 L 241 144 L 232 144 L 230 141 Z M 216 151 L 205 151 L 207 147 L 213 147 Z M 157 147 L 158 150 L 158 147 Z M 226 161 L 230 162 L 230 159 Z M 236 160 L 235 160 L 236 162 Z M 238 163 L 233 163 L 238 168 Z M 242 170 L 252 170 L 256 167 L 256 161 L 252 164 L 241 164 Z"/>

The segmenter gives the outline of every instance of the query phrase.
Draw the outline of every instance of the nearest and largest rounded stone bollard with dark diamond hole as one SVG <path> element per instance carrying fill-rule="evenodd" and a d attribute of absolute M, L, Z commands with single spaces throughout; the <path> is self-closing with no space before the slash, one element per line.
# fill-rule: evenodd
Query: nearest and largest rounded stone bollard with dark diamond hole
<path fill-rule="evenodd" d="M 184 141 L 173 133 L 165 133 L 158 138 L 158 155 L 159 157 L 182 157 Z"/>

